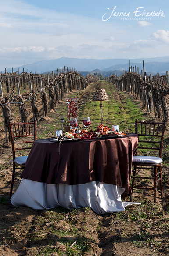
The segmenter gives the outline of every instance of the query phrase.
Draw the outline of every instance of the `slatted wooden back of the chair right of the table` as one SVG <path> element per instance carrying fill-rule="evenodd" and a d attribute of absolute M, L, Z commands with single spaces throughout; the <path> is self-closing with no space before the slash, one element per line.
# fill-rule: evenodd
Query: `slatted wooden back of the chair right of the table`
<path fill-rule="evenodd" d="M 163 122 L 146 122 L 135 120 L 135 132 L 139 136 L 138 149 L 158 151 L 162 157 L 162 144 L 165 131 L 165 120 Z M 140 139 L 142 137 L 142 139 Z M 146 145 L 144 146 L 144 144 Z M 153 147 L 153 144 L 155 147 Z"/>

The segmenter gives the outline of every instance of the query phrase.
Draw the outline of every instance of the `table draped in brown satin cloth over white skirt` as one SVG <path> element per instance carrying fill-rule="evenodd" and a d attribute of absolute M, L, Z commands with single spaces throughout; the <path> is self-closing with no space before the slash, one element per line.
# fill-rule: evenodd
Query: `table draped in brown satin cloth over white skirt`
<path fill-rule="evenodd" d="M 85 140 L 34 141 L 11 197 L 14 206 L 35 210 L 90 207 L 98 214 L 124 211 L 138 135 Z"/>

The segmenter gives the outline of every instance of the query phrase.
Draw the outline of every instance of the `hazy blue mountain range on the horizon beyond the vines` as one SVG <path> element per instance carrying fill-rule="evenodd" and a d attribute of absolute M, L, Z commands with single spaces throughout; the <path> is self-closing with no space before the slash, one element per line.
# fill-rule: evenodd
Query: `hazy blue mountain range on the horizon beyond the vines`
<path fill-rule="evenodd" d="M 139 68 L 139 72 L 143 70 L 143 60 L 144 60 L 144 70 L 147 74 L 165 74 L 169 70 L 169 57 L 155 57 L 155 58 L 145 58 L 145 59 L 130 59 L 130 67 L 135 66 Z M 59 71 L 63 70 L 64 66 L 67 70 L 79 71 L 82 75 L 86 76 L 88 73 L 94 74 L 98 73 L 103 76 L 109 76 L 113 73 L 120 75 L 123 71 L 129 70 L 129 59 L 79 59 L 79 58 L 66 58 L 61 57 L 55 60 L 44 60 L 37 61 L 32 64 L 25 64 L 24 66 L 18 67 L 19 72 L 23 70 L 25 72 L 33 73 L 57 73 L 57 68 Z M 13 68 L 14 71 L 18 71 L 18 68 Z M 132 68 L 133 70 L 133 68 Z M 5 71 L 2 71 L 5 72 Z M 12 68 L 7 68 L 7 72 L 12 72 Z"/>

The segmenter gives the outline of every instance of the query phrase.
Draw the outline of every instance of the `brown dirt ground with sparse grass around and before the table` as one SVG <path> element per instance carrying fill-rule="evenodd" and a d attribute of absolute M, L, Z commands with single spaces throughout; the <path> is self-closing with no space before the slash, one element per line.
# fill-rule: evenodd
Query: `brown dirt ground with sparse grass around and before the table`
<path fill-rule="evenodd" d="M 124 96 L 117 92 L 115 97 L 120 101 Z M 37 129 L 37 133 L 40 133 L 41 128 Z M 89 208 L 65 210 L 61 207 L 34 211 L 28 207 L 14 207 L 10 203 L 12 166 L 8 162 L 12 156 L 11 147 L 4 144 L 3 128 L 0 135 L 0 165 L 6 165 L 0 169 L 1 256 L 169 255 L 167 166 L 163 166 L 164 198 L 161 199 L 158 193 L 156 204 L 152 203 L 151 192 L 139 190 L 134 192 L 133 200 L 141 202 L 141 206 L 128 206 L 121 213 L 97 215 Z M 17 186 L 15 183 L 14 190 Z M 81 245 L 79 254 L 76 245 Z"/>

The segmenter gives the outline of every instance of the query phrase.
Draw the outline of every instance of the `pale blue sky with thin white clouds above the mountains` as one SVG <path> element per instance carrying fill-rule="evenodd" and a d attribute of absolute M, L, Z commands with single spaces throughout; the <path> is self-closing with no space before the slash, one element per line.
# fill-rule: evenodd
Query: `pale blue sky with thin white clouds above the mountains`
<path fill-rule="evenodd" d="M 0 0 L 0 70 L 60 57 L 169 56 L 168 24 L 169 0 Z"/>

